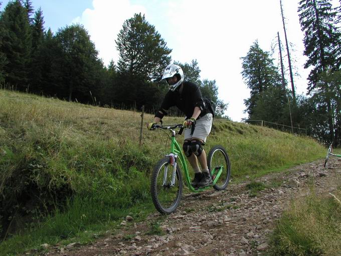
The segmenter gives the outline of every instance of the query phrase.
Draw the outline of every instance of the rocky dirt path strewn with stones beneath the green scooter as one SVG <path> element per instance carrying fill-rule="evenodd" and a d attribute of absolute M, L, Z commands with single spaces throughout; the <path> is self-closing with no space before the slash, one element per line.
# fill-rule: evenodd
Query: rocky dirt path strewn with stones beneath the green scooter
<path fill-rule="evenodd" d="M 330 159 L 328 169 L 319 160 L 264 176 L 257 181 L 269 188 L 255 197 L 249 182 L 184 195 L 174 214 L 122 221 L 116 234 L 108 231 L 92 244 L 54 247 L 44 255 L 258 255 L 268 248 L 268 234 L 290 198 L 303 196 L 311 182 L 317 190 L 333 191 L 335 174 L 341 175 L 341 159 Z M 163 234 L 146 234 L 155 222 Z"/>

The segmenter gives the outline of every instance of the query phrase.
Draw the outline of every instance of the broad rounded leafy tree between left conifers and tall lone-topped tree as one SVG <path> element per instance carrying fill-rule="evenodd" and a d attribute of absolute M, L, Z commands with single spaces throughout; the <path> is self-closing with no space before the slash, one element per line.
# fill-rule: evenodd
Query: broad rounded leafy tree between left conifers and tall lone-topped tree
<path fill-rule="evenodd" d="M 103 63 L 88 32 L 82 25 L 66 26 L 58 30 L 55 40 L 59 50 L 55 61 L 63 74 L 58 88 L 62 89 L 61 95 L 70 101 L 77 98 L 92 102 L 90 91 L 97 89 L 98 70 Z"/>

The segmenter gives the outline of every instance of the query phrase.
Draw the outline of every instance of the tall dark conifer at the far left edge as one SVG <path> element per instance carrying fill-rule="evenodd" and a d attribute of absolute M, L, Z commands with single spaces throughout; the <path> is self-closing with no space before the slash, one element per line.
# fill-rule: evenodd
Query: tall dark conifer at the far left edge
<path fill-rule="evenodd" d="M 2 52 L 8 61 L 4 67 L 6 82 L 25 90 L 28 88 L 32 35 L 27 11 L 19 0 L 9 2 L 0 23 L 4 29 Z"/>

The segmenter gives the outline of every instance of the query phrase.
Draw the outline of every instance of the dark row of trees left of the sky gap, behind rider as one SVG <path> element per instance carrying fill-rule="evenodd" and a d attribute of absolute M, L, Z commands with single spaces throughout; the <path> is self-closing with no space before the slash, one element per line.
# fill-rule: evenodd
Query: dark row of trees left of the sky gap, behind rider
<path fill-rule="evenodd" d="M 1 3 L 0 3 L 1 6 Z M 154 112 L 168 87 L 160 81 L 172 49 L 144 15 L 127 19 L 113 42 L 117 63 L 105 66 L 95 44 L 80 24 L 46 30 L 43 11 L 32 1 L 11 1 L 0 13 L 0 83 L 19 91 L 106 107 Z M 185 79 L 196 81 L 203 95 L 224 116 L 227 103 L 218 98 L 215 80 L 200 79 L 196 60 L 180 63 Z M 176 109 L 172 113 L 180 114 Z M 225 116 L 227 117 L 227 116 Z"/>

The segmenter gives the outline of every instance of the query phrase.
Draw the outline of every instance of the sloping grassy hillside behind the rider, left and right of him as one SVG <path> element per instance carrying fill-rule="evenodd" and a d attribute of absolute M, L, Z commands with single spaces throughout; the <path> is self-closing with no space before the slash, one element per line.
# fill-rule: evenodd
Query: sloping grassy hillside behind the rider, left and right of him
<path fill-rule="evenodd" d="M 145 114 L 144 123 L 152 118 Z M 143 125 L 139 147 L 140 123 L 140 112 L 0 90 L 0 232 L 8 238 L 22 230 L 0 244 L 0 251 L 88 239 L 84 230 L 103 230 L 130 211 L 136 218 L 154 211 L 149 174 L 169 141 Z M 307 137 L 226 120 L 214 121 L 206 150 L 215 144 L 227 149 L 232 182 L 326 152 Z"/>

